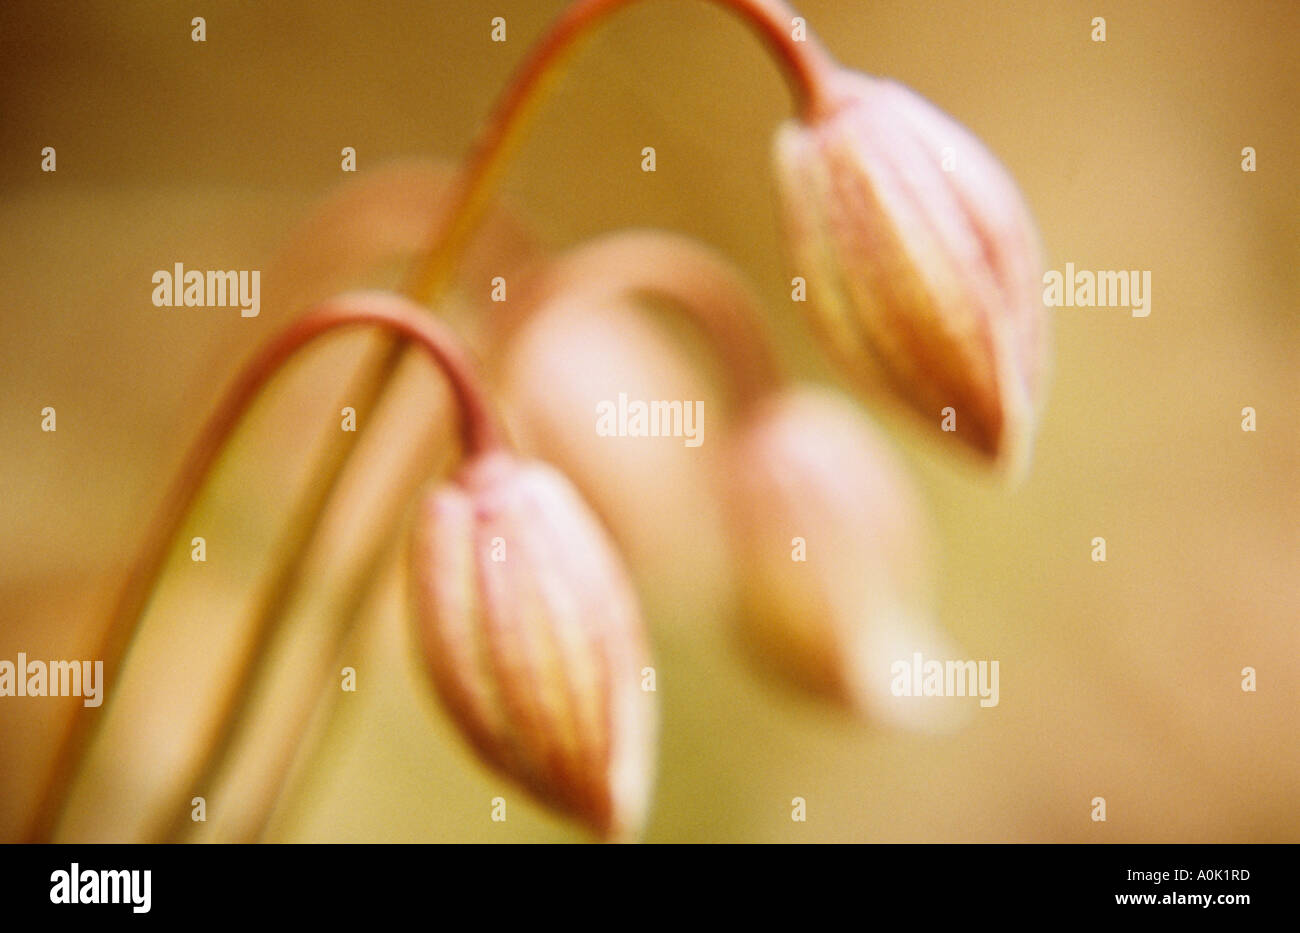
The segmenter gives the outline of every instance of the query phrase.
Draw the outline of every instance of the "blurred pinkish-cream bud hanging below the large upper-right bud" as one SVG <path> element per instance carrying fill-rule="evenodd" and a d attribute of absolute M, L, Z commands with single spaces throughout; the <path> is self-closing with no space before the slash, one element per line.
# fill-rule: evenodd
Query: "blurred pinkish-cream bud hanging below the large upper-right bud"
<path fill-rule="evenodd" d="M 890 689 L 915 651 L 956 655 L 931 622 L 928 522 L 871 422 L 797 387 L 763 402 L 729 454 L 745 646 L 875 721 L 948 726 L 950 704 Z"/>

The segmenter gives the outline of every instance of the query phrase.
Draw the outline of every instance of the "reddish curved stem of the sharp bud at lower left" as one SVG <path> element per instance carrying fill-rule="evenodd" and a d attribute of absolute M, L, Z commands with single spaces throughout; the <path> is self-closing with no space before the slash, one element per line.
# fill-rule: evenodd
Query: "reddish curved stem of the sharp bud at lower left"
<path fill-rule="evenodd" d="M 446 376 L 462 413 L 462 435 L 467 454 L 482 454 L 502 446 L 503 441 L 488 404 L 484 389 L 467 355 L 460 350 L 454 333 L 432 317 L 420 305 L 385 292 L 352 292 L 324 301 L 303 314 L 278 337 L 272 339 L 235 377 L 221 404 L 204 425 L 198 442 L 190 450 L 185 468 L 178 474 L 162 508 L 155 518 L 150 535 L 133 565 L 126 585 L 118 598 L 113 616 L 101 637 L 96 658 L 104 661 L 105 680 L 116 680 L 139 630 L 138 620 L 148 606 L 159 572 L 166 560 L 170 544 L 179 531 L 195 499 L 203 489 L 214 460 L 244 413 L 270 378 L 298 350 L 335 327 L 350 325 L 378 325 L 395 333 L 404 342 L 422 348 Z M 404 344 L 402 344 L 404 346 Z M 320 509 L 317 509 L 317 513 Z M 308 535 L 309 537 L 309 535 Z M 298 548 L 302 551 L 303 548 Z M 261 624 L 254 643 L 259 643 L 268 630 L 268 622 L 278 615 L 283 594 L 291 587 L 273 587 L 269 603 L 260 613 Z M 250 665 L 242 665 L 244 671 Z M 233 709 L 240 686 L 226 694 L 226 709 Z M 72 791 L 77 764 L 103 728 L 107 709 L 100 707 L 94 717 L 74 716 L 55 756 L 49 780 L 44 785 L 40 803 L 26 833 L 27 841 L 48 839 Z M 225 717 L 229 719 L 229 717 Z"/>

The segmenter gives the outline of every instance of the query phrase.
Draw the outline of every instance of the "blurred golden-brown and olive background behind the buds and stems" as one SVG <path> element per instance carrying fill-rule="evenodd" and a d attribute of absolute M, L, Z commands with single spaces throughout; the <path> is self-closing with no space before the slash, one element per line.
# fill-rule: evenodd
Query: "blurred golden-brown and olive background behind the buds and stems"
<path fill-rule="evenodd" d="M 454 164 L 562 6 L 0 8 L 0 659 L 90 656 L 221 387 L 306 301 L 398 281 L 441 190 L 411 160 Z M 647 839 L 1300 838 L 1300 6 L 1106 6 L 798 4 L 846 65 L 910 84 L 998 153 L 1049 268 L 1149 269 L 1152 313 L 1054 312 L 1053 383 L 1014 491 L 894 430 L 933 515 L 939 617 L 965 656 L 1001 664 L 1000 706 L 952 734 L 854 720 L 757 673 L 727 626 L 729 568 L 703 478 L 718 434 L 694 460 L 663 455 L 681 457 L 670 505 L 693 524 L 629 547 L 662 703 Z M 506 43 L 489 40 L 494 16 Z M 1095 16 L 1105 43 L 1089 38 Z M 540 113 L 446 313 L 490 355 L 477 305 L 491 275 L 515 281 L 543 251 L 619 227 L 662 227 L 728 256 L 764 299 L 781 356 L 828 378 L 789 311 L 770 166 L 788 113 L 777 70 L 727 12 L 692 0 L 621 12 Z M 654 174 L 641 172 L 645 146 Z M 1240 169 L 1247 146 L 1256 173 Z M 355 175 L 341 172 L 343 147 Z M 155 308 L 151 275 L 178 261 L 264 270 L 261 316 Z M 707 353 L 654 326 L 682 361 L 654 398 L 724 409 Z M 368 339 L 324 343 L 240 433 L 182 534 L 205 535 L 208 561 L 177 548 L 108 685 L 118 695 L 61 838 L 135 838 L 169 799 L 203 793 L 177 774 L 211 726 L 286 503 L 322 430 L 337 430 L 343 373 Z M 329 690 L 290 780 L 266 777 L 298 734 L 286 711 L 317 695 L 317 629 L 344 602 L 348 568 L 368 535 L 393 537 L 385 477 L 434 474 L 454 455 L 437 381 L 422 366 L 402 381 L 373 413 L 274 645 L 276 676 L 190 838 L 237 838 L 268 781 L 272 839 L 585 838 L 484 769 L 433 702 L 399 547 L 372 574 L 344 651 L 358 691 Z M 55 433 L 40 430 L 46 405 Z M 1256 433 L 1240 429 L 1247 405 Z M 1104 564 L 1089 556 L 1098 535 Z M 74 709 L 90 715 L 79 700 L 0 699 L 0 839 L 18 836 Z M 488 816 L 498 794 L 504 824 Z M 793 797 L 806 823 L 792 823 Z M 1093 797 L 1108 821 L 1089 819 Z"/>

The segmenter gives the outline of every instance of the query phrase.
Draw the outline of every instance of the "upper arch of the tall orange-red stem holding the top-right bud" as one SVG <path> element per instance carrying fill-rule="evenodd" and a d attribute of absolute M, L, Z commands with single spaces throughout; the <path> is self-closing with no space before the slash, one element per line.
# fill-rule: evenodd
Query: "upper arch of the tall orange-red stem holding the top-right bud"
<path fill-rule="evenodd" d="M 577 0 L 533 47 L 480 131 L 450 211 L 433 231 L 430 246 L 413 269 L 406 294 L 416 300 L 428 300 L 446 286 L 491 190 L 523 136 L 530 110 L 558 77 L 560 64 L 601 21 L 634 1 Z M 758 32 L 780 64 L 802 120 L 815 120 L 833 108 L 826 88 L 826 75 L 833 68 L 831 56 L 811 34 L 802 42 L 794 40 L 793 10 L 783 0 L 710 1 L 736 13 Z"/>

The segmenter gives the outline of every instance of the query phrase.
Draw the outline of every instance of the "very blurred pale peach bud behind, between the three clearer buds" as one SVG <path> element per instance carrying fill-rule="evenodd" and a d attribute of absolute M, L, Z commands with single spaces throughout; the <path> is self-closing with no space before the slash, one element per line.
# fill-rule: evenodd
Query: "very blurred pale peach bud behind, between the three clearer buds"
<path fill-rule="evenodd" d="M 620 402 L 651 400 L 682 405 L 681 438 L 598 433 L 601 412 L 612 409 L 618 429 Z M 521 450 L 572 477 L 637 573 L 673 581 L 681 598 L 723 599 L 724 518 L 710 481 L 719 392 L 649 312 L 610 295 L 540 309 L 503 360 L 502 407 Z"/>

